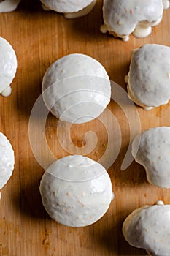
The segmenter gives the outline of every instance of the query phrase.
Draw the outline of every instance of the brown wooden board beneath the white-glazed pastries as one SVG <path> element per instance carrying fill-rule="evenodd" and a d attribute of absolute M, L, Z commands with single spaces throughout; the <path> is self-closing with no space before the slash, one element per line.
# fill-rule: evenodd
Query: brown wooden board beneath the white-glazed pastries
<path fill-rule="evenodd" d="M 100 33 L 101 1 L 90 15 L 75 20 L 66 20 L 63 15 L 43 11 L 38 0 L 22 0 L 15 12 L 0 14 L 0 36 L 12 44 L 18 56 L 18 72 L 12 83 L 12 95 L 0 97 L 0 130 L 7 135 L 15 150 L 14 173 L 1 190 L 1 256 L 146 255 L 144 250 L 135 249 L 124 241 L 121 232 L 123 220 L 144 204 L 153 204 L 156 200 L 170 203 L 170 190 L 148 184 L 144 169 L 135 162 L 127 170 L 120 171 L 130 131 L 120 106 L 114 101 L 108 106 L 117 118 L 122 133 L 120 154 L 108 170 L 115 200 L 100 221 L 79 229 L 55 223 L 42 206 L 39 181 L 44 170 L 31 151 L 28 121 L 34 102 L 41 94 L 42 76 L 55 59 L 68 53 L 88 54 L 101 61 L 110 79 L 125 89 L 124 76 L 128 72 L 133 48 L 148 42 L 170 46 L 169 16 L 170 10 L 166 10 L 162 23 L 152 29 L 150 37 L 136 39 L 131 36 L 130 41 L 124 43 Z M 170 125 L 170 105 L 147 112 L 142 108 L 136 109 L 142 131 Z M 48 116 L 46 136 L 51 150 L 59 158 L 69 152 L 58 142 L 57 123 L 52 115 Z M 67 143 L 65 128 L 66 124 L 63 124 L 60 134 Z M 98 143 L 88 157 L 98 160 L 107 148 L 108 129 L 114 127 L 106 128 L 98 120 L 73 125 L 72 142 L 78 148 L 73 147 L 72 154 L 81 154 L 81 147 L 85 146 L 85 133 L 93 131 L 98 136 Z"/>

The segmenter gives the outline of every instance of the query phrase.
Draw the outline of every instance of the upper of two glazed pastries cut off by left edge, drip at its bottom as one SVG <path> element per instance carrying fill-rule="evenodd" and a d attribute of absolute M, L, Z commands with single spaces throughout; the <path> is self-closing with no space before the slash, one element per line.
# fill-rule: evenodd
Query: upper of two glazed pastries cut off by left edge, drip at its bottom
<path fill-rule="evenodd" d="M 0 94 L 7 97 L 11 94 L 10 83 L 17 70 L 17 57 L 12 46 L 0 37 Z"/>

